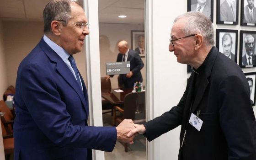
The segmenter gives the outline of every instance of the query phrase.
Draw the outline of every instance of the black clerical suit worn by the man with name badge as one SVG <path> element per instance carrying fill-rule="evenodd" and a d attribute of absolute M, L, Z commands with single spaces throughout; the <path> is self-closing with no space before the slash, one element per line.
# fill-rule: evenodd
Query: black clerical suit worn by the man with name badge
<path fill-rule="evenodd" d="M 181 125 L 179 160 L 256 160 L 256 119 L 240 67 L 213 47 L 196 72 L 178 105 L 145 123 L 144 135 L 152 141 Z M 188 123 L 191 113 L 203 121 L 200 131 Z"/>

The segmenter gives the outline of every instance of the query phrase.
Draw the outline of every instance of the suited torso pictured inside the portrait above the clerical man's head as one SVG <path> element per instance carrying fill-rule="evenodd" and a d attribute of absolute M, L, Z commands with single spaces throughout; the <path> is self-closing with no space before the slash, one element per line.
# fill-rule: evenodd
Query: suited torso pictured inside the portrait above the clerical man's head
<path fill-rule="evenodd" d="M 191 11 L 200 11 L 204 16 L 211 18 L 211 0 L 197 0 L 196 4 L 191 5 Z"/>

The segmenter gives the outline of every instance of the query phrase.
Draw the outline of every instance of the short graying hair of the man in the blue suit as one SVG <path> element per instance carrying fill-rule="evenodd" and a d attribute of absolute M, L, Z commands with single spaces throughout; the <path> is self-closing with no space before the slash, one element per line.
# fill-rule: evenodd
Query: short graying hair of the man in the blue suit
<path fill-rule="evenodd" d="M 61 21 L 63 26 L 67 25 L 69 19 L 72 18 L 70 7 L 70 4 L 72 3 L 80 5 L 73 0 L 52 0 L 45 6 L 43 10 L 44 33 L 52 31 L 51 23 L 54 20 Z"/>

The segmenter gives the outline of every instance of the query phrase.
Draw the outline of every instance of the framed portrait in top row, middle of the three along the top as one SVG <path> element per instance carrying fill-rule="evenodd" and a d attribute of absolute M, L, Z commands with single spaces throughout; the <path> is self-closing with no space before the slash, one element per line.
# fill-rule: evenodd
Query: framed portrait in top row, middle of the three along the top
<path fill-rule="evenodd" d="M 217 0 L 217 24 L 238 24 L 238 1 Z"/>

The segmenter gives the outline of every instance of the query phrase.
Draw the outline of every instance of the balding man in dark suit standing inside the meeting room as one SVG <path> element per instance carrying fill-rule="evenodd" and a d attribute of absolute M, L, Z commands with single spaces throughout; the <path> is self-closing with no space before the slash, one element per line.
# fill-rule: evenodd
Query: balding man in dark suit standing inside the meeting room
<path fill-rule="evenodd" d="M 120 85 L 124 85 L 124 88 L 132 88 L 134 83 L 142 82 L 140 70 L 144 67 L 144 63 L 137 52 L 128 48 L 126 41 L 119 42 L 117 47 L 120 52 L 117 55 L 117 62 L 130 62 L 130 72 L 119 75 L 119 83 Z M 113 76 L 107 75 L 106 80 Z"/>

